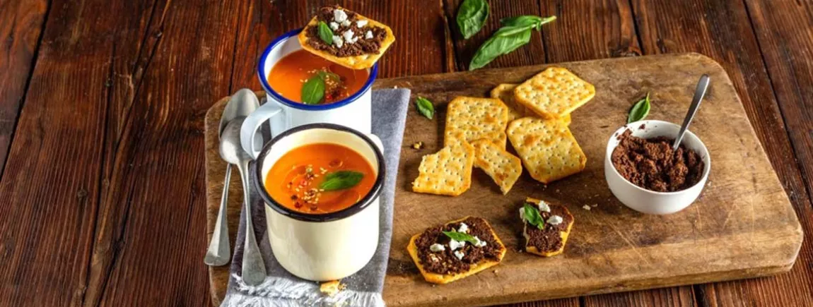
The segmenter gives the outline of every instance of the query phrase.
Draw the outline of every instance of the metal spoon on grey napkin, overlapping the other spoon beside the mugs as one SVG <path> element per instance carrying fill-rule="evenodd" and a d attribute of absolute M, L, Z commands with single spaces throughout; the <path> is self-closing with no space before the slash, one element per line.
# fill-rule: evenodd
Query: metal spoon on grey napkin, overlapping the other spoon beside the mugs
<path fill-rule="evenodd" d="M 250 286 L 263 283 L 265 279 L 265 265 L 263 256 L 259 253 L 257 239 L 254 238 L 254 226 L 251 223 L 251 193 L 249 190 L 249 162 L 251 157 L 240 145 L 240 128 L 245 117 L 232 120 L 226 125 L 223 131 L 223 138 L 220 146 L 220 156 L 226 162 L 236 164 L 240 170 L 240 177 L 243 182 L 243 210 L 246 211 L 246 242 L 243 244 L 243 282 Z"/>

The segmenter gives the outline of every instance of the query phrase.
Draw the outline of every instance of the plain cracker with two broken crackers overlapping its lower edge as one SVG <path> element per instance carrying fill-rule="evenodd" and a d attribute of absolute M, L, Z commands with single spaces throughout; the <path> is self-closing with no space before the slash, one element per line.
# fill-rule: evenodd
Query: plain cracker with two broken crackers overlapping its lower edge
<path fill-rule="evenodd" d="M 499 99 L 455 97 L 446 109 L 443 145 L 454 144 L 454 136 L 462 133 L 462 141 L 487 139 L 505 148 L 507 123 L 508 107 Z"/>

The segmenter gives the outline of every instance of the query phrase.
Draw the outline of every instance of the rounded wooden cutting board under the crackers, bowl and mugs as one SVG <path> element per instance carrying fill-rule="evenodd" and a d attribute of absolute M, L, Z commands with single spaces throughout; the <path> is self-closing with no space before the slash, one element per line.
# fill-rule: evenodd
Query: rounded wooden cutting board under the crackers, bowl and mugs
<path fill-rule="evenodd" d="M 411 192 L 424 154 L 442 147 L 446 103 L 457 96 L 483 97 L 500 83 L 517 83 L 550 65 L 410 76 L 378 80 L 376 88 L 409 88 L 436 104 L 434 120 L 415 110 L 406 118 L 401 150 L 392 249 L 385 281 L 389 306 L 475 306 L 566 296 L 623 292 L 745 279 L 790 270 L 802 229 L 776 173 L 759 144 L 728 75 L 701 54 L 666 54 L 558 63 L 593 83 L 596 96 L 572 114 L 570 126 L 588 157 L 585 171 L 545 186 L 525 172 L 502 196 L 480 170 L 459 197 Z M 626 123 L 633 101 L 652 93 L 647 119 L 680 123 L 702 74 L 711 87 L 690 128 L 711 152 L 711 175 L 702 196 L 667 216 L 628 209 L 607 188 L 606 142 Z M 224 162 L 217 155 L 217 125 L 224 107 L 207 114 L 208 236 L 223 187 Z M 423 141 L 424 149 L 410 145 Z M 233 177 L 239 178 L 239 177 Z M 229 226 L 234 236 L 240 210 L 239 179 L 232 180 Z M 517 208 L 525 197 L 568 204 L 576 218 L 562 255 L 542 258 L 519 252 L 524 240 Z M 590 210 L 583 205 L 591 206 Z M 487 218 L 506 244 L 499 266 L 442 286 L 425 283 L 406 253 L 410 236 L 465 215 Z M 232 240 L 233 241 L 233 240 Z M 211 268 L 215 305 L 224 296 L 228 266 Z"/>

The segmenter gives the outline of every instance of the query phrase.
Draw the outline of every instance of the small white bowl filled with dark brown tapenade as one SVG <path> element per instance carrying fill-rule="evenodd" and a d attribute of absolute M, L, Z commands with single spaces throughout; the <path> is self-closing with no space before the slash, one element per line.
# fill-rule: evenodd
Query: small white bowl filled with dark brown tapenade
<path fill-rule="evenodd" d="M 700 196 L 711 171 L 706 145 L 680 125 L 660 120 L 628 123 L 607 141 L 604 177 L 624 205 L 646 214 L 672 214 Z"/>

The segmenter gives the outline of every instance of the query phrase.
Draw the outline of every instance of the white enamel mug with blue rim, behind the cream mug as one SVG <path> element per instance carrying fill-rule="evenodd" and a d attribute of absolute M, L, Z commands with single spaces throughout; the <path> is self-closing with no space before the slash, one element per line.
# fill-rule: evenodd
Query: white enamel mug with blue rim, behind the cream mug
<path fill-rule="evenodd" d="M 262 142 L 256 141 L 256 133 L 265 121 L 271 124 L 272 137 L 278 136 L 290 128 L 308 123 L 336 123 L 359 132 L 370 133 L 372 125 L 370 92 L 372 83 L 378 75 L 377 63 L 370 68 L 370 76 L 367 77 L 367 82 L 358 92 L 338 102 L 324 105 L 293 102 L 282 97 L 272 88 L 271 84 L 268 84 L 268 74 L 274 65 L 285 55 L 302 50 L 302 45 L 299 45 L 297 39 L 297 35 L 301 31 L 302 29 L 293 30 L 277 37 L 259 58 L 257 76 L 265 90 L 266 103 L 246 118 L 240 132 L 243 149 L 246 149 L 251 158 L 257 158 L 257 154 L 259 154 L 258 147 Z"/>

